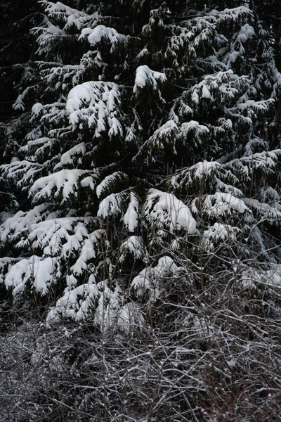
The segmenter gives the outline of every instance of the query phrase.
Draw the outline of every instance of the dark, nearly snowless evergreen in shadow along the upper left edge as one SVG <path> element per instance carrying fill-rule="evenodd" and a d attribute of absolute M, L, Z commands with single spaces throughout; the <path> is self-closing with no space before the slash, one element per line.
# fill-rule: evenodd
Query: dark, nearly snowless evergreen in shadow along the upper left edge
<path fill-rule="evenodd" d="M 9 162 L 25 137 L 30 115 L 13 109 L 16 88 L 21 81 L 31 82 L 34 48 L 30 29 L 41 21 L 39 4 L 32 0 L 2 1 L 0 4 L 0 163 Z M 15 195 L 1 179 L 0 210 L 15 210 Z"/>

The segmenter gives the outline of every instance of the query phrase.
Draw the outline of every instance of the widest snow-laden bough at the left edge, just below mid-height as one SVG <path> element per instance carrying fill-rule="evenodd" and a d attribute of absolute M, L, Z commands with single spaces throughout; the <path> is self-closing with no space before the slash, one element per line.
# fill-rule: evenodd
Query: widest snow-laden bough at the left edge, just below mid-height
<path fill-rule="evenodd" d="M 98 255 L 104 231 L 89 232 L 87 227 L 93 226 L 93 217 L 56 217 L 58 212 L 52 212 L 54 207 L 54 204 L 44 203 L 6 219 L 0 226 L 1 241 L 14 243 L 20 250 L 40 250 L 43 257 L 71 258 L 75 261 L 70 274 L 80 276 L 93 269 L 91 262 Z M 16 268 L 20 269 L 20 266 Z"/>

